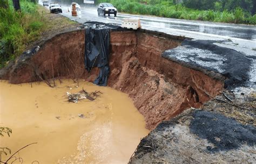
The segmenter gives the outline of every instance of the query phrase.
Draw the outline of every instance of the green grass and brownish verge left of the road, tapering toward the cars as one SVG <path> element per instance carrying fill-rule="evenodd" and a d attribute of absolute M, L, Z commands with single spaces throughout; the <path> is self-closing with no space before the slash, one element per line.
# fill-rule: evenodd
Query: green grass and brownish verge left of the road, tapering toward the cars
<path fill-rule="evenodd" d="M 7 2 L 4 7 L 0 4 L 0 68 L 15 60 L 45 32 L 75 24 L 68 18 L 51 14 L 35 0 L 19 0 L 21 10 L 18 11 L 12 1 Z"/>

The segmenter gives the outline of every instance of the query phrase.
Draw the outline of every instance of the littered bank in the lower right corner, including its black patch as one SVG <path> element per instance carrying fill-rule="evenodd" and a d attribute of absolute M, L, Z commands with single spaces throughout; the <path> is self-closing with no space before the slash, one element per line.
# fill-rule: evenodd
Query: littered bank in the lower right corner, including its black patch
<path fill-rule="evenodd" d="M 224 90 L 200 109 L 160 123 L 130 163 L 255 163 L 255 96 L 253 88 Z"/>

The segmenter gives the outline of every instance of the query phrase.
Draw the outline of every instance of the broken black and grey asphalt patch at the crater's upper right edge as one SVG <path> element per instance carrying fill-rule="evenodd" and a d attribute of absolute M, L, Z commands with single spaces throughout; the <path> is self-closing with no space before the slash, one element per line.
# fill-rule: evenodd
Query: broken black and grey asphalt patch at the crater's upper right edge
<path fill-rule="evenodd" d="M 193 69 L 206 69 L 226 77 L 225 88 L 245 86 L 250 79 L 252 59 L 234 49 L 220 47 L 211 40 L 184 40 L 181 46 L 162 56 Z"/>

